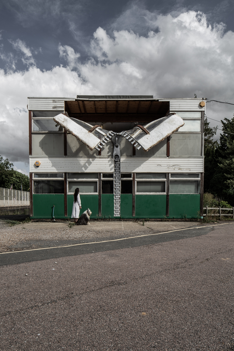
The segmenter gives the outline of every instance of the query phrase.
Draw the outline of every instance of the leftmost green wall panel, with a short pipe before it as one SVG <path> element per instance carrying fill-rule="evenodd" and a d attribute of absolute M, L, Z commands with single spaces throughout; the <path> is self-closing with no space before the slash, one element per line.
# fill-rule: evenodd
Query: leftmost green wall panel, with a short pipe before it
<path fill-rule="evenodd" d="M 63 194 L 33 194 L 33 217 L 52 218 L 64 217 L 64 195 Z"/>

